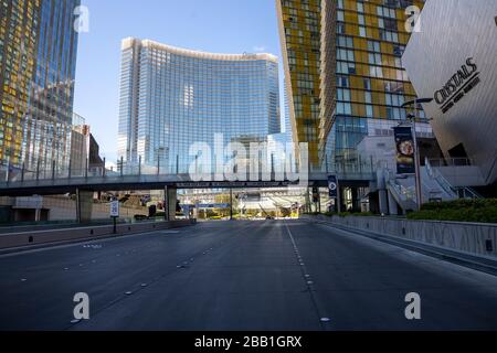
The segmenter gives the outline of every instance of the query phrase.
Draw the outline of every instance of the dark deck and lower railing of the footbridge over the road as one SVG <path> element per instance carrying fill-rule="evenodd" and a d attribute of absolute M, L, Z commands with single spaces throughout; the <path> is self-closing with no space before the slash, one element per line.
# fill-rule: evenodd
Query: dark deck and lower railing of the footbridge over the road
<path fill-rule="evenodd" d="M 258 178 L 245 180 L 216 180 L 214 174 L 119 174 L 102 171 L 86 173 L 83 176 L 57 176 L 55 173 L 49 178 L 15 178 L 0 181 L 0 196 L 29 196 L 54 195 L 73 193 L 77 190 L 104 191 L 133 191 L 133 190 L 165 190 L 169 189 L 251 189 L 251 188 L 284 188 L 284 186 L 327 186 L 328 175 L 338 175 L 342 185 L 369 185 L 373 180 L 373 172 L 369 171 L 339 171 L 339 172 L 310 172 L 303 180 L 288 180 L 277 178 L 275 173 L 258 173 Z M 256 179 L 256 180 L 254 180 Z M 200 180 L 200 181 L 199 181 Z"/>

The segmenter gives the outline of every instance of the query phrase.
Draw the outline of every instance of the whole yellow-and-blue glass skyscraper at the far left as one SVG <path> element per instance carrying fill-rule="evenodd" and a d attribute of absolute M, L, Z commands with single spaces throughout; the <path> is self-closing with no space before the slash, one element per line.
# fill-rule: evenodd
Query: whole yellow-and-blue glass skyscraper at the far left
<path fill-rule="evenodd" d="M 68 167 L 81 0 L 4 1 L 0 22 L 0 160 Z"/>

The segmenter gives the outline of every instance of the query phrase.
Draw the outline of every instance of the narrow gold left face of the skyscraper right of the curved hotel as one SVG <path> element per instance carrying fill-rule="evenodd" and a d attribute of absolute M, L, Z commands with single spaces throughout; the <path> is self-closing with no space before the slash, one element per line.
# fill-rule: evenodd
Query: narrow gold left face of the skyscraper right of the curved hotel
<path fill-rule="evenodd" d="M 320 0 L 276 0 L 294 142 L 319 165 Z"/>

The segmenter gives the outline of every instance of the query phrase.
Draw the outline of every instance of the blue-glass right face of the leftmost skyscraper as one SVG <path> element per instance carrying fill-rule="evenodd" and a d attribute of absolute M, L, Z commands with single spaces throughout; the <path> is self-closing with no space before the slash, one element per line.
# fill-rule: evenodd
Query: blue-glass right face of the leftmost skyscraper
<path fill-rule="evenodd" d="M 77 32 L 81 0 L 43 0 L 39 23 L 36 72 L 23 128 L 25 168 L 46 170 L 55 161 L 66 169 L 71 156 Z"/>

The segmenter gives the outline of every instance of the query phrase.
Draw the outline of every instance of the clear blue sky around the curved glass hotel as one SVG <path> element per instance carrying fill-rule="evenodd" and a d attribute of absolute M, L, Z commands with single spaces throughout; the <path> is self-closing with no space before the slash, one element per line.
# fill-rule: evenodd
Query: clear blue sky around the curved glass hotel
<path fill-rule="evenodd" d="M 117 158 L 121 39 L 150 39 L 214 53 L 267 52 L 281 57 L 274 0 L 82 3 L 89 10 L 89 32 L 80 34 L 74 109 L 92 126 L 108 160 Z M 283 86 L 283 73 L 281 81 Z"/>

